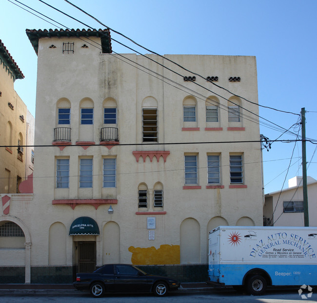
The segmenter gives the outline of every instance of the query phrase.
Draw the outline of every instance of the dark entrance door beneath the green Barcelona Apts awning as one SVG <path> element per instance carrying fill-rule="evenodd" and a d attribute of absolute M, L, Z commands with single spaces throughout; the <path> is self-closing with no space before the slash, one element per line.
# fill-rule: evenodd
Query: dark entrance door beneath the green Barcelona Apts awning
<path fill-rule="evenodd" d="M 96 242 L 78 242 L 78 271 L 93 272 L 96 269 Z"/>

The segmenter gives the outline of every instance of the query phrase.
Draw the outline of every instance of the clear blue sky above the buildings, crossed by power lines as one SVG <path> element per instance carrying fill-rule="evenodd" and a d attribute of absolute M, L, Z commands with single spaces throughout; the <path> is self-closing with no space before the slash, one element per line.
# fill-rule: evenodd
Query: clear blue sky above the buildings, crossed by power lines
<path fill-rule="evenodd" d="M 46 1 L 92 27 L 103 28 L 63 0 Z M 305 107 L 308 111 L 306 137 L 317 139 L 317 0 L 71 1 L 107 26 L 162 55 L 256 56 L 259 104 L 298 114 Z M 86 28 L 38 0 L 20 2 L 63 24 L 62 28 Z M 35 115 L 37 56 L 25 29 L 49 29 L 59 25 L 41 20 L 8 0 L 0 0 L 0 11 L 0 39 L 25 76 L 15 82 L 15 89 Z M 132 45 L 113 32 L 111 36 Z M 112 47 L 118 53 L 132 52 L 116 42 Z M 285 129 L 297 122 L 295 115 L 263 108 L 260 108 L 260 116 Z M 292 131 L 297 132 L 298 126 Z M 264 125 L 260 126 L 260 133 L 271 140 L 281 135 Z M 284 134 L 280 139 L 295 137 Z M 294 145 L 275 142 L 269 152 L 263 150 L 265 193 L 282 188 Z M 316 146 L 307 143 L 307 162 L 311 162 L 307 174 L 315 179 Z M 301 175 L 301 143 L 298 142 L 284 188 L 288 179 Z"/>

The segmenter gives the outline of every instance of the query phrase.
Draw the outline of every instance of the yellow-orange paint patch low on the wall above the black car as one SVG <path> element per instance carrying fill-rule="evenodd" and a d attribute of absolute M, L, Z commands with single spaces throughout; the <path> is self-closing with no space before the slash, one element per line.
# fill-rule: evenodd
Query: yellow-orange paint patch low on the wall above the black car
<path fill-rule="evenodd" d="M 158 249 L 154 246 L 143 248 L 130 246 L 129 251 L 132 252 L 132 264 L 180 264 L 179 245 L 163 244 Z"/>

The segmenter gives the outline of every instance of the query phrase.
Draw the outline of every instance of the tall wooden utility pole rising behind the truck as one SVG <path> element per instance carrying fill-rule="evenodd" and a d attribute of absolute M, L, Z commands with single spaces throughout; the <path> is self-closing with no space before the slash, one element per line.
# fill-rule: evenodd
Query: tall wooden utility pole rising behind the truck
<path fill-rule="evenodd" d="M 307 196 L 307 169 L 306 169 L 306 127 L 305 107 L 301 109 L 301 153 L 303 167 L 303 200 L 304 200 L 304 226 L 309 226 L 308 196 Z"/>

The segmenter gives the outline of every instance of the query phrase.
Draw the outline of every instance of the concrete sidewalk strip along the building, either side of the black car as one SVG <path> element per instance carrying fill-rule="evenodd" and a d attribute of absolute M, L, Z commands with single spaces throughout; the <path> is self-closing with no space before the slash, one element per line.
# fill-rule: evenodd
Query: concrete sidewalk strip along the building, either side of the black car
<path fill-rule="evenodd" d="M 180 283 L 177 292 L 208 292 L 214 287 L 201 283 Z M 73 284 L 0 284 L 0 295 L 5 294 L 38 294 L 38 295 L 71 295 L 78 294 Z"/>

